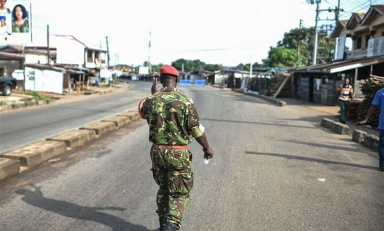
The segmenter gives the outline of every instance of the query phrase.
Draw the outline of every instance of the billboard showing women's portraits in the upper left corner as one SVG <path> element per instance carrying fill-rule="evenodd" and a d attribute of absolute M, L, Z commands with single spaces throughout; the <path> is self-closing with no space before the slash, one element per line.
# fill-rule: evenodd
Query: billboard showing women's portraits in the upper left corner
<path fill-rule="evenodd" d="M 0 43 L 31 42 L 30 0 L 0 0 Z"/>

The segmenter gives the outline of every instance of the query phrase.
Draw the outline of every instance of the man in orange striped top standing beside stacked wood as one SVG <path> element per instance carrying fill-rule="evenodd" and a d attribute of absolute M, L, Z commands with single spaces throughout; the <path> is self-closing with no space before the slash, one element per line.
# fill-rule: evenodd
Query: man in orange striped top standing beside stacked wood
<path fill-rule="evenodd" d="M 350 85 L 350 80 L 345 79 L 344 84 L 340 85 L 337 89 L 337 101 L 340 105 L 340 122 L 342 123 L 347 121 L 351 100 L 353 100 L 353 88 Z"/>

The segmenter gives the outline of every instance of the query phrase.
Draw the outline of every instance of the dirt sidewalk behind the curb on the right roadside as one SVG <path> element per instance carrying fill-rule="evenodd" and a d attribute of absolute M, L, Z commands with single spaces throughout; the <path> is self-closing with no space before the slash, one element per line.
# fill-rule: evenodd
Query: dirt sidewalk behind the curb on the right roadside
<path fill-rule="evenodd" d="M 319 112 L 319 117 L 329 118 L 335 121 L 339 121 L 339 110 L 340 108 L 338 106 L 325 106 L 325 105 L 319 105 L 314 104 L 310 102 L 305 102 L 302 100 L 292 99 L 292 98 L 279 98 L 287 103 L 287 107 L 294 107 L 294 108 L 302 108 L 303 110 L 312 110 L 314 112 Z M 321 118 L 317 118 L 318 123 L 320 124 Z M 315 121 L 314 121 L 315 122 Z M 372 129 L 365 126 L 356 126 L 353 122 L 347 121 L 347 125 L 350 126 L 350 133 L 352 134 L 353 130 L 361 130 L 368 135 L 376 135 L 379 136 L 379 130 Z"/>

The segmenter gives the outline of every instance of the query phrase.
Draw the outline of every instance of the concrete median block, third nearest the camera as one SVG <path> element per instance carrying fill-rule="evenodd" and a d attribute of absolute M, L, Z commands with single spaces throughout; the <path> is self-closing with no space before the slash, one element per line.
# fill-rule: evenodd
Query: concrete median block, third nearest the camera
<path fill-rule="evenodd" d="M 48 138 L 47 141 L 64 142 L 67 148 L 81 146 L 89 141 L 96 139 L 95 130 L 72 130 L 63 134 Z"/>

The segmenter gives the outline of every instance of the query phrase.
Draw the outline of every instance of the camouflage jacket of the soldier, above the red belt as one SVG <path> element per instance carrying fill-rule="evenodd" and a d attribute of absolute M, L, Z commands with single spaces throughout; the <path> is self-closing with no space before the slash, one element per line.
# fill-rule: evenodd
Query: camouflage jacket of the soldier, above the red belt
<path fill-rule="evenodd" d="M 149 141 L 155 144 L 186 145 L 204 133 L 192 99 L 173 87 L 149 96 L 141 113 L 149 125 Z"/>

